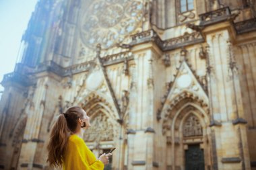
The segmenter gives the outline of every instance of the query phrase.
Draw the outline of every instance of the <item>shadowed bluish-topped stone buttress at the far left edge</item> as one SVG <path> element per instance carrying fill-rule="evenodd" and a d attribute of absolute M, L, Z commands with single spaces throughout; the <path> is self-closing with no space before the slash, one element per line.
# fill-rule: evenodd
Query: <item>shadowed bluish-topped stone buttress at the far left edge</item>
<path fill-rule="evenodd" d="M 23 129 L 19 129 L 22 128 L 19 123 L 24 116 L 22 110 L 26 105 L 26 87 L 12 80 L 3 81 L 2 84 L 5 91 L 0 102 L 0 169 L 11 169 L 16 164 L 13 158 L 20 150 L 18 138 L 22 136 Z"/>

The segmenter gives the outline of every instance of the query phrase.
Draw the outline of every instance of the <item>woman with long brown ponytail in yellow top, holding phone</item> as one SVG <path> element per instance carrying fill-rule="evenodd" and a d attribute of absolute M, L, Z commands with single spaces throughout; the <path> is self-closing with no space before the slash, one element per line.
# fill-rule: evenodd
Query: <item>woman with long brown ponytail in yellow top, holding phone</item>
<path fill-rule="evenodd" d="M 50 167 L 63 167 L 64 170 L 103 170 L 112 154 L 102 154 L 96 159 L 82 139 L 82 128 L 91 126 L 90 118 L 78 106 L 68 108 L 61 114 L 50 134 L 47 146 Z"/>

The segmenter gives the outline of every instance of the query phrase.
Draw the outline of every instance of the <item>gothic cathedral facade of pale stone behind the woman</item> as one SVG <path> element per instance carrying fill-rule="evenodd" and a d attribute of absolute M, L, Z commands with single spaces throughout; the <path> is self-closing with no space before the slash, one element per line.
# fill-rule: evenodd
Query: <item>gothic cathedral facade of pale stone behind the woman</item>
<path fill-rule="evenodd" d="M 79 105 L 113 170 L 256 169 L 253 0 L 40 0 L 4 76 L 0 169 L 51 169 Z"/>

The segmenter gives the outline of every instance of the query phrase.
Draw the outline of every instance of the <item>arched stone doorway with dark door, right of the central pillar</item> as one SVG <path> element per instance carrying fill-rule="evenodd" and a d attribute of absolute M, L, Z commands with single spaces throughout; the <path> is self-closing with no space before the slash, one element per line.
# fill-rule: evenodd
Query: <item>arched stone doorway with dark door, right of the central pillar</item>
<path fill-rule="evenodd" d="M 208 169 L 212 155 L 207 103 L 188 92 L 170 101 L 164 107 L 162 120 L 168 155 L 166 169 Z"/>

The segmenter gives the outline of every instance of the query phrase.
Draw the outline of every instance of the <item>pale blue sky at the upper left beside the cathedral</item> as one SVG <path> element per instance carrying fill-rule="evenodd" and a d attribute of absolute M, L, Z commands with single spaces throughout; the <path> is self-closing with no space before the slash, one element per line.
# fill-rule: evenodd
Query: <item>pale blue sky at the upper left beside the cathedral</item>
<path fill-rule="evenodd" d="M 22 35 L 37 1 L 0 0 L 0 82 L 3 75 L 13 72 Z"/>

